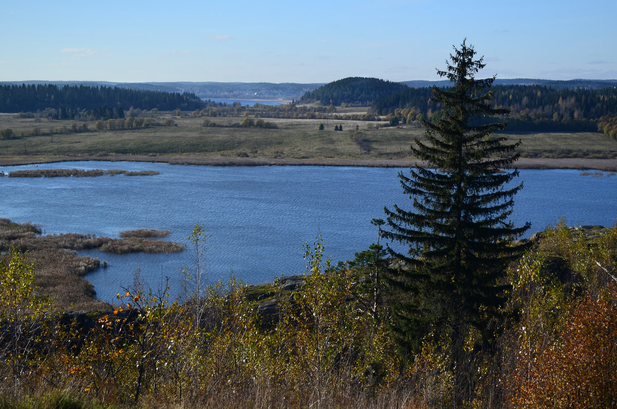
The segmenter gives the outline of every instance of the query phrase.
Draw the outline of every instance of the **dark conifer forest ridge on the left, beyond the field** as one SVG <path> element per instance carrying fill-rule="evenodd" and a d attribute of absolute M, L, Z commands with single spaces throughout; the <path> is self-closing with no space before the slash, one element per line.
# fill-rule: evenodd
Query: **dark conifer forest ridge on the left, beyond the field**
<path fill-rule="evenodd" d="M 0 112 L 36 112 L 46 108 L 96 109 L 101 106 L 134 106 L 141 109 L 193 110 L 204 106 L 192 93 L 131 90 L 118 86 L 52 84 L 1 85 Z"/>

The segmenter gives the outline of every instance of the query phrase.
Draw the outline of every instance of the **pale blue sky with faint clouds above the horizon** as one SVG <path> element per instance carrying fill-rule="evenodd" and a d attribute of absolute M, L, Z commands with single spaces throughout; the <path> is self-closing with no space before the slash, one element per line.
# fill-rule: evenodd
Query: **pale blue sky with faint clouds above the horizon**
<path fill-rule="evenodd" d="M 176 0 L 0 4 L 0 81 L 617 79 L 617 0 Z"/>

